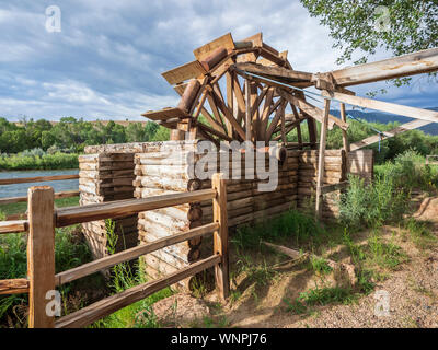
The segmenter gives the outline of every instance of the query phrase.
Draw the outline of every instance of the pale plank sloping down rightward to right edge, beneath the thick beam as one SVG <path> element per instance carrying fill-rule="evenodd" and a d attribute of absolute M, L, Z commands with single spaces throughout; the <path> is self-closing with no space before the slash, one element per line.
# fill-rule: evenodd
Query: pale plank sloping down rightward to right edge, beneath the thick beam
<path fill-rule="evenodd" d="M 351 96 L 343 94 L 341 92 L 323 91 L 322 94 L 325 97 L 336 98 L 338 101 L 342 101 L 343 103 L 357 105 L 364 108 L 382 110 L 410 118 L 438 122 L 438 112 L 435 110 L 408 107 L 395 103 L 371 100 L 366 97 Z"/>

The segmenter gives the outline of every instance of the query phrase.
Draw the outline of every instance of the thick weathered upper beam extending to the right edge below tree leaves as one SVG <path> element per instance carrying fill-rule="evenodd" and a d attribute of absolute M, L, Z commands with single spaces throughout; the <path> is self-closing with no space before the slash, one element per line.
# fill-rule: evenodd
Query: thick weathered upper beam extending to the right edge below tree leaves
<path fill-rule="evenodd" d="M 332 71 L 337 85 L 350 86 L 438 70 L 438 48 Z"/>

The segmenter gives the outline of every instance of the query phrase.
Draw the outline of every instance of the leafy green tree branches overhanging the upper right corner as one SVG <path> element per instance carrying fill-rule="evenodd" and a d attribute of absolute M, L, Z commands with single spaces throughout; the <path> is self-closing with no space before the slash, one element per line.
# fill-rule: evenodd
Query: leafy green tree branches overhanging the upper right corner
<path fill-rule="evenodd" d="M 395 56 L 438 46 L 437 0 L 300 0 L 312 16 L 330 28 L 334 47 L 342 50 L 338 63 L 351 59 L 354 52 L 362 63 L 379 48 Z M 385 7 L 379 11 L 378 7 Z M 383 30 L 379 23 L 387 22 Z M 394 80 L 396 85 L 411 78 Z"/>

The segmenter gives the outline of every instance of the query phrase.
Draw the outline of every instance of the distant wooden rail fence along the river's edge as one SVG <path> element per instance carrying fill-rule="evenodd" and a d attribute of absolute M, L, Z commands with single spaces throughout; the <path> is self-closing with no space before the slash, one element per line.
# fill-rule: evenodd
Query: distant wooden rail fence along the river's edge
<path fill-rule="evenodd" d="M 43 183 L 43 182 L 60 182 L 66 179 L 76 179 L 79 175 L 54 175 L 54 176 L 35 176 L 35 177 L 18 177 L 18 178 L 0 178 L 1 185 L 14 185 L 14 184 L 28 184 L 28 183 Z M 55 198 L 68 198 L 79 196 L 79 190 L 66 190 L 55 194 Z M 27 196 L 23 197 L 8 197 L 0 198 L 1 205 L 10 205 L 27 201 Z"/>

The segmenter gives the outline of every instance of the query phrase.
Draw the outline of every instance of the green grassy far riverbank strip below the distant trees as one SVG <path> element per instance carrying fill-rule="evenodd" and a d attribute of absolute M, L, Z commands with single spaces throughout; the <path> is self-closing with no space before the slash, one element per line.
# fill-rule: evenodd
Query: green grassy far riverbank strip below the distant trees
<path fill-rule="evenodd" d="M 77 153 L 32 154 L 22 152 L 18 154 L 0 154 L 1 171 L 30 171 L 30 170 L 69 170 L 78 168 Z"/>

